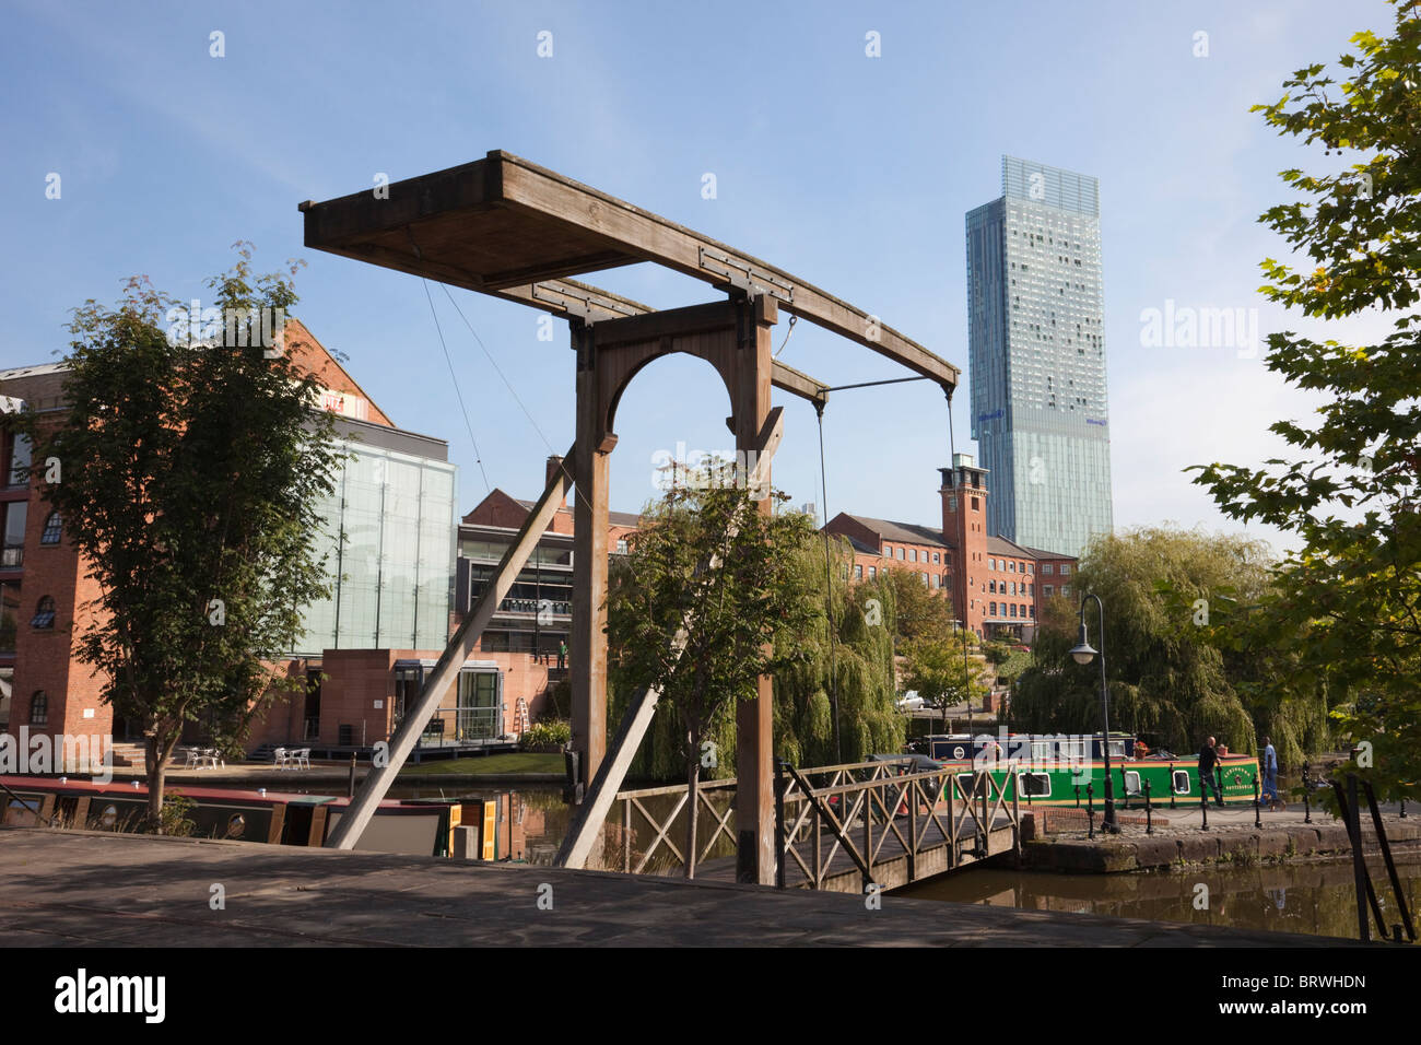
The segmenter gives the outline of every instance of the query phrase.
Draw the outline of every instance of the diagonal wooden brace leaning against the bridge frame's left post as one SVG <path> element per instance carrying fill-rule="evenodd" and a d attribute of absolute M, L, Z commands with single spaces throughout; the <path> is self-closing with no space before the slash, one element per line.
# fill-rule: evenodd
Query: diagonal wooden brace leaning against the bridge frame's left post
<path fill-rule="evenodd" d="M 567 452 L 567 458 L 571 458 L 577 451 L 578 446 L 574 444 Z M 401 768 L 405 765 L 405 759 L 409 758 L 409 752 L 415 749 L 415 744 L 419 741 L 421 734 L 423 734 L 429 719 L 433 718 L 441 701 L 453 688 L 455 681 L 459 678 L 459 670 L 469 660 L 469 654 L 473 653 L 473 647 L 493 617 L 493 611 L 499 609 L 499 604 L 509 594 L 509 589 L 517 580 L 523 564 L 533 554 L 533 549 L 537 547 L 543 530 L 553 522 L 553 516 L 563 505 L 563 498 L 567 496 L 571 482 L 566 465 L 549 481 L 543 496 L 533 506 L 533 510 L 529 512 L 527 519 L 523 520 L 523 527 L 517 532 L 513 543 L 509 545 L 509 550 L 503 553 L 503 562 L 493 572 L 493 577 L 479 597 L 477 604 L 469 610 L 463 623 L 459 624 L 459 628 L 453 633 L 453 638 L 449 640 L 449 645 L 445 647 L 439 663 L 435 664 L 425 680 L 415 707 L 408 709 L 404 721 L 391 738 L 389 761 L 382 766 L 371 766 L 364 783 L 360 786 L 360 792 L 351 800 L 340 823 L 335 825 L 330 839 L 325 842 L 327 847 L 354 849 L 355 843 L 360 842 L 360 836 L 369 825 L 371 818 L 375 816 L 377 806 L 379 806 L 381 799 L 385 798 L 385 792 L 395 782 Z M 607 560 L 604 556 L 603 569 L 605 570 L 605 567 Z M 603 692 L 605 694 L 605 687 Z"/>

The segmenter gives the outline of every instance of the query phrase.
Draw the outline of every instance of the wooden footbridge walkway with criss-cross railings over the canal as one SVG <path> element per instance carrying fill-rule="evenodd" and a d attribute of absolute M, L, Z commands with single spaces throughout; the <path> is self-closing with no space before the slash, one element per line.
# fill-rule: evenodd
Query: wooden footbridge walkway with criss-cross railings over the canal
<path fill-rule="evenodd" d="M 779 881 L 861 893 L 870 884 L 895 889 L 999 853 L 1019 856 L 1015 775 L 1007 779 L 1003 789 L 985 769 L 914 772 L 909 758 L 784 766 L 777 779 Z M 733 779 L 698 788 L 699 879 L 735 881 L 733 799 Z M 620 792 L 617 802 L 621 859 L 610 863 L 631 874 L 682 876 L 686 788 Z"/>

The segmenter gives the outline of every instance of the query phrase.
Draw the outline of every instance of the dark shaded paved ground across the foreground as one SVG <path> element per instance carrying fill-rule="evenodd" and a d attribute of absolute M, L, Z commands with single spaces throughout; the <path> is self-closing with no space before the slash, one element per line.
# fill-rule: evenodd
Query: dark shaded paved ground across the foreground
<path fill-rule="evenodd" d="M 226 909 L 212 910 L 212 886 Z M 551 910 L 540 910 L 549 896 Z M 530 864 L 0 827 L 11 947 L 1339 947 L 1064 911 L 686 883 Z"/>

